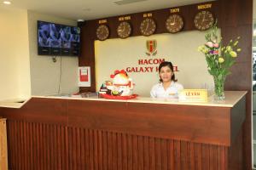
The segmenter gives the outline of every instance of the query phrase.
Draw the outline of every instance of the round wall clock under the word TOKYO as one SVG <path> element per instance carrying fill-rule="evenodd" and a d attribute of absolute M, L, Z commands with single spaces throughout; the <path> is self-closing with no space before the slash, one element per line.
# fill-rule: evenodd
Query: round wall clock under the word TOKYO
<path fill-rule="evenodd" d="M 179 14 L 172 14 L 166 20 L 166 29 L 171 33 L 181 31 L 183 25 L 183 18 Z"/>

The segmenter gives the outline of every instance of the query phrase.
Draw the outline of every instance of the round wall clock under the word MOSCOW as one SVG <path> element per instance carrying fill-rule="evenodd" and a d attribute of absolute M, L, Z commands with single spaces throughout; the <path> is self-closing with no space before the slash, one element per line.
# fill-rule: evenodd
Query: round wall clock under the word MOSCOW
<path fill-rule="evenodd" d="M 213 14 L 209 11 L 201 11 L 195 15 L 194 23 L 196 29 L 205 31 L 214 24 Z"/>

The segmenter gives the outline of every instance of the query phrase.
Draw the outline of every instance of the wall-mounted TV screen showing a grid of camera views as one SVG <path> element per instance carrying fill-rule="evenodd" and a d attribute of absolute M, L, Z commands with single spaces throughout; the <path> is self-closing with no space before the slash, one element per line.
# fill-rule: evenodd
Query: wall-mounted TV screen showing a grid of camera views
<path fill-rule="evenodd" d="M 80 29 L 38 20 L 39 55 L 73 55 L 80 51 Z"/>

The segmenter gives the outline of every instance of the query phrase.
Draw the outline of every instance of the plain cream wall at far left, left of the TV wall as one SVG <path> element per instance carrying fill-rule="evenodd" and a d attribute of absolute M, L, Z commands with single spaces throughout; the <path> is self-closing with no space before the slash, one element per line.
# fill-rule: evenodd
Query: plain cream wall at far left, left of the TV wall
<path fill-rule="evenodd" d="M 27 12 L 0 7 L 0 100 L 31 94 Z"/>

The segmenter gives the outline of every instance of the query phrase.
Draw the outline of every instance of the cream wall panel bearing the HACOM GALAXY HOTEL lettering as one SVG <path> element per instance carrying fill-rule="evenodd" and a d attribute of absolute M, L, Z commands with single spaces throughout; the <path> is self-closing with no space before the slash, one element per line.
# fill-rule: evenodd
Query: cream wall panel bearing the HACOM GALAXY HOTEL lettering
<path fill-rule="evenodd" d="M 150 37 L 129 37 L 127 39 L 108 39 L 95 42 L 96 52 L 96 89 L 102 82 L 109 80 L 114 70 L 127 67 L 153 67 L 150 72 L 131 72 L 128 75 L 136 86 L 134 93 L 149 96 L 150 89 L 159 82 L 154 65 L 139 65 L 138 59 L 165 59 L 177 65 L 177 82 L 184 88 L 213 89 L 212 76 L 207 71 L 204 54 L 197 51 L 205 43 L 205 33 L 201 31 L 183 31 L 177 34 L 160 34 Z M 148 56 L 147 40 L 157 41 L 157 54 Z M 146 69 L 144 69 L 145 71 Z"/>

